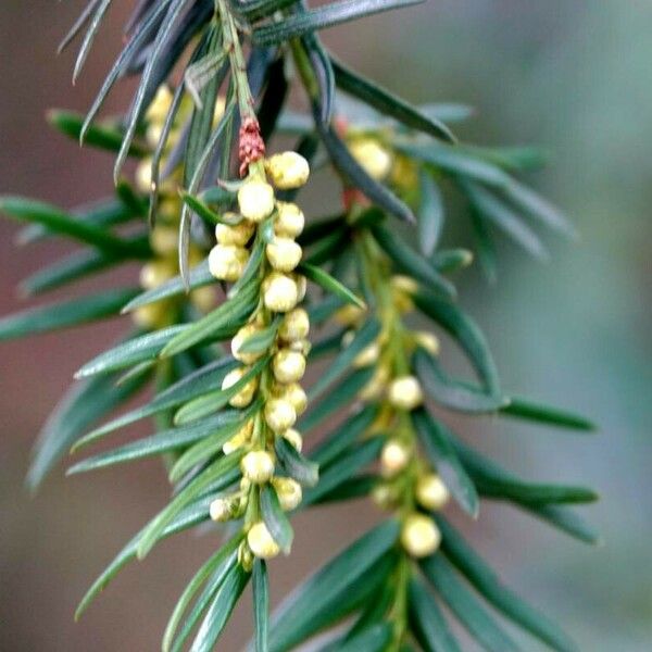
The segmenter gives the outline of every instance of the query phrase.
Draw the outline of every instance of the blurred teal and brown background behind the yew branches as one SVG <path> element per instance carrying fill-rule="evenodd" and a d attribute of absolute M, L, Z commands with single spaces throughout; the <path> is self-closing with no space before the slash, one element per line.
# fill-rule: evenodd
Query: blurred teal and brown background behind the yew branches
<path fill-rule="evenodd" d="M 89 105 L 133 2 L 115 3 L 73 88 L 73 52 L 54 53 L 82 4 L 0 3 L 0 192 L 72 206 L 110 188 L 110 158 L 79 152 L 43 121 L 47 108 Z M 586 514 L 605 544 L 586 548 L 501 506 L 464 527 L 514 588 L 593 652 L 652 649 L 650 34 L 644 0 L 430 0 L 324 34 L 342 59 L 413 101 L 473 104 L 476 117 L 457 129 L 463 139 L 540 143 L 552 153 L 549 168 L 527 180 L 564 208 L 581 242 L 549 239 L 548 265 L 501 247 L 498 285 L 469 273 L 462 301 L 485 328 L 507 389 L 584 412 L 600 430 L 463 426 L 524 476 L 595 487 L 602 501 Z M 108 109 L 124 108 L 130 90 L 123 86 Z M 25 254 L 14 247 L 16 231 L 0 222 L 0 314 L 21 306 L 17 281 L 64 247 Z M 60 468 L 36 497 L 23 488 L 48 412 L 72 373 L 120 328 L 114 322 L 0 347 L 2 651 L 156 650 L 176 598 L 214 549 L 211 535 L 161 546 L 73 623 L 89 582 L 167 491 L 156 462 L 74 479 Z M 364 515 L 355 525 L 350 510 L 298 518 L 291 560 L 273 568 L 276 598 L 376 517 L 371 506 L 356 507 Z M 250 605 L 241 605 L 221 649 L 239 649 L 250 618 Z M 539 648 L 526 640 L 524 649 Z"/>

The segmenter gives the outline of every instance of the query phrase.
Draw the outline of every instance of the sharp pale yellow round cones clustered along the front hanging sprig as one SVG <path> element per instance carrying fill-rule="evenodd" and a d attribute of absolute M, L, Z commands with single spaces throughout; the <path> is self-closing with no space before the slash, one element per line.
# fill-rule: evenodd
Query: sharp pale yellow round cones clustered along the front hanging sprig
<path fill-rule="evenodd" d="M 304 216 L 294 203 L 275 197 L 275 189 L 286 190 L 305 184 L 309 165 L 294 152 L 284 152 L 250 166 L 249 177 L 237 193 L 238 213 L 224 215 L 215 228 L 216 244 L 209 254 L 211 274 L 223 281 L 236 283 L 243 274 L 251 250 L 264 240 L 264 260 L 260 266 L 261 296 L 258 309 L 231 340 L 233 356 L 241 366 L 229 372 L 222 384 L 227 390 L 250 374 L 261 359 L 269 362 L 258 376 L 239 385 L 229 404 L 244 409 L 259 398 L 262 408 L 227 441 L 224 453 L 241 449 L 242 480 L 237 493 L 217 498 L 211 505 L 214 521 L 244 519 L 246 540 L 240 547 L 244 566 L 253 556 L 271 559 L 280 549 L 261 518 L 258 498 L 269 485 L 283 510 L 296 509 L 301 502 L 301 486 L 292 478 L 277 475 L 275 441 L 287 440 L 301 451 L 302 438 L 293 428 L 305 410 L 308 399 L 300 380 L 305 372 L 310 343 L 308 313 L 299 308 L 306 280 L 296 273 L 302 256 L 296 238 L 304 226 Z M 263 330 L 277 326 L 274 341 L 266 350 L 248 347 Z"/>

